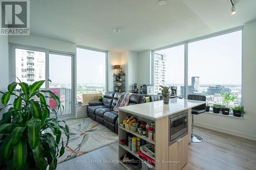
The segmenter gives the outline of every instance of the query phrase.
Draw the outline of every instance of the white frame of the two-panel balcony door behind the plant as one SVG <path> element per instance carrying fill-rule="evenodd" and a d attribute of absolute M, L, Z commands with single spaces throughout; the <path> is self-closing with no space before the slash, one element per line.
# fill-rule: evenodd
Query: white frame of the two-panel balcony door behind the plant
<path fill-rule="evenodd" d="M 20 48 L 23 50 L 31 50 L 31 51 L 38 51 L 38 52 L 44 52 L 46 53 L 46 60 L 45 60 L 45 79 L 49 79 L 49 55 L 50 54 L 57 54 L 57 55 L 65 55 L 70 56 L 72 61 L 72 69 L 71 69 L 71 114 L 64 114 L 64 115 L 58 115 L 59 117 L 65 117 L 65 118 L 73 118 L 76 116 L 76 100 L 74 99 L 75 96 L 75 61 L 76 61 L 76 54 L 71 52 L 62 52 L 57 50 L 50 50 L 47 48 L 42 47 L 36 47 L 36 46 L 30 46 L 30 45 L 22 45 L 22 44 L 15 44 L 15 43 L 9 43 L 9 83 L 15 82 L 16 78 L 16 62 L 15 62 L 15 48 Z M 49 81 L 46 81 L 46 90 L 49 90 Z M 47 99 L 48 101 L 49 99 Z"/>

